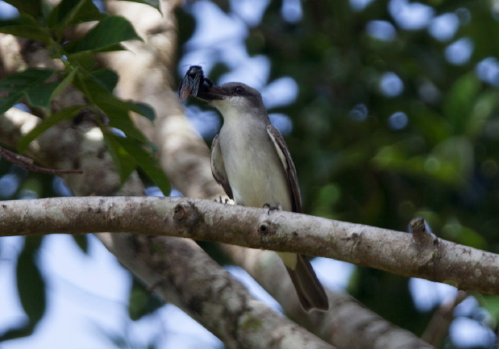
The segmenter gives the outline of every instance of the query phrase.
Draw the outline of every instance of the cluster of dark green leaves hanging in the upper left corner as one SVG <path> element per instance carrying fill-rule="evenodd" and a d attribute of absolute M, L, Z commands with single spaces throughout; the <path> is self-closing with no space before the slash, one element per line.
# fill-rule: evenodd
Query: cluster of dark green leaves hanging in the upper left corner
<path fill-rule="evenodd" d="M 91 0 L 63 0 L 54 7 L 43 0 L 6 2 L 16 6 L 19 16 L 1 21 L 0 33 L 41 41 L 51 58 L 61 61 L 64 69 L 28 68 L 0 80 L 0 113 L 20 101 L 30 107 L 51 110 L 51 100 L 70 84 L 88 101 L 88 105 L 71 105 L 51 113 L 19 141 L 19 152 L 24 152 L 29 143 L 49 127 L 74 118 L 83 108 L 91 108 L 96 115 L 105 115 L 105 121 L 100 117 L 95 119 L 121 181 L 139 167 L 168 194 L 170 184 L 155 160 L 155 147 L 130 118 L 133 112 L 153 121 L 154 111 L 143 103 L 117 98 L 113 90 L 118 75 L 107 68 L 96 69 L 96 53 L 123 50 L 123 41 L 141 40 L 132 24 L 123 17 L 102 13 Z M 160 10 L 158 0 L 135 2 Z M 91 21 L 96 21 L 96 25 L 83 37 L 63 41 L 68 28 Z"/>

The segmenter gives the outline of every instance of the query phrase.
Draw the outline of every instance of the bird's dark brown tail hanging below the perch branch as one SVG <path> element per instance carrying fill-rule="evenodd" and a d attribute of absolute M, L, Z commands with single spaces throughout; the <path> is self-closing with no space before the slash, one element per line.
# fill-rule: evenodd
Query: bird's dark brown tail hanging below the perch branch
<path fill-rule="evenodd" d="M 289 258 L 283 258 L 283 261 L 289 276 L 291 276 L 294 288 L 297 290 L 302 308 L 305 311 L 310 311 L 312 308 L 327 311 L 329 309 L 329 301 L 327 300 L 326 292 L 317 279 L 309 259 L 303 254 L 295 256 L 296 264 L 294 264 L 294 268 L 289 263 Z"/>

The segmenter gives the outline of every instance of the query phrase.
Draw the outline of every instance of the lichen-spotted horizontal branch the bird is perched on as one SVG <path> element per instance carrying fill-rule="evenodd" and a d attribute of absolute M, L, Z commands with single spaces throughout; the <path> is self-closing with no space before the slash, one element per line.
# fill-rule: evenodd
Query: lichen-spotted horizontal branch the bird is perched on
<path fill-rule="evenodd" d="M 199 199 L 54 198 L 2 202 L 0 234 L 130 231 L 220 241 L 349 261 L 394 274 L 499 293 L 499 255 L 434 239 L 421 249 L 411 234 Z"/>

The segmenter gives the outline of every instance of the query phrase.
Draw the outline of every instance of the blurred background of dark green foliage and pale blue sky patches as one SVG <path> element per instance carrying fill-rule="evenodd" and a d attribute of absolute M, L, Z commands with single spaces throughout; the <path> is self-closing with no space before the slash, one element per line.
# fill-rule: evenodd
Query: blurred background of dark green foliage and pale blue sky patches
<path fill-rule="evenodd" d="M 0 2 L 3 19 L 15 15 Z M 178 80 L 201 65 L 217 83 L 262 92 L 308 214 L 399 231 L 424 217 L 443 239 L 499 253 L 499 1 L 202 0 L 176 15 Z M 186 108 L 210 144 L 220 115 L 194 100 Z M 0 199 L 67 195 L 61 179 L 0 159 Z M 417 335 L 456 295 L 337 261 L 314 268 Z M 244 271 L 227 269 L 279 310 Z M 223 348 L 93 236 L 0 239 L 0 290 L 0 333 L 26 322 L 20 298 L 35 312 L 46 306 L 33 333 L 1 348 Z M 454 316 L 443 348 L 495 348 L 497 297 L 470 295 Z"/>

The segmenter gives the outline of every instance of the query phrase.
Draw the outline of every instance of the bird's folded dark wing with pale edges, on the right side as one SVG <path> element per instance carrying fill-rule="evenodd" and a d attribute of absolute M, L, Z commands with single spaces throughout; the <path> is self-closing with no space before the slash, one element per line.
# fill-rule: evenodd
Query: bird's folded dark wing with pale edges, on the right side
<path fill-rule="evenodd" d="M 289 150 L 286 145 L 286 141 L 281 135 L 281 132 L 277 130 L 273 125 L 267 125 L 267 133 L 270 136 L 272 142 L 274 142 L 277 155 L 281 160 L 282 167 L 284 167 L 284 172 L 286 172 L 287 184 L 289 187 L 289 192 L 291 192 L 291 202 L 293 207 L 293 212 L 302 212 L 302 199 L 299 194 L 299 185 L 297 170 L 294 168 L 294 163 L 289 154 Z"/>

